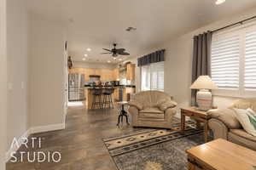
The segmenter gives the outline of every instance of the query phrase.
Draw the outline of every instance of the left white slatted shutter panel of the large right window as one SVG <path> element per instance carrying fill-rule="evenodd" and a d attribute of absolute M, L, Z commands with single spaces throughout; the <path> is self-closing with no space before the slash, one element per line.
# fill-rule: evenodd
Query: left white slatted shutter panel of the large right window
<path fill-rule="evenodd" d="M 212 81 L 219 89 L 239 89 L 240 35 L 212 39 Z"/>

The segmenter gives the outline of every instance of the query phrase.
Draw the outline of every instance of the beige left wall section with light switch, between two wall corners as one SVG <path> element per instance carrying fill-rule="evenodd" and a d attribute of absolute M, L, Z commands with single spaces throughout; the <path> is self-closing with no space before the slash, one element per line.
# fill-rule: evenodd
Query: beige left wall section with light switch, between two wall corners
<path fill-rule="evenodd" d="M 29 128 L 28 15 L 26 3 L 22 1 L 7 1 L 7 56 L 9 145 Z"/>

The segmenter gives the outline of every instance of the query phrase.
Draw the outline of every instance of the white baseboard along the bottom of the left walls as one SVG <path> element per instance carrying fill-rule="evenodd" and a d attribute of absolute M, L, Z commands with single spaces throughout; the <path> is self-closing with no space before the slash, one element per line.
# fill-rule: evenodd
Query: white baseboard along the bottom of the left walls
<path fill-rule="evenodd" d="M 27 137 L 29 137 L 29 135 L 33 133 L 44 133 L 44 132 L 50 132 L 50 131 L 62 130 L 62 129 L 65 129 L 65 122 L 60 124 L 47 125 L 47 126 L 31 127 L 26 131 L 26 133 L 22 134 L 20 138 L 17 138 L 18 145 L 20 146 L 21 144 L 23 144 L 24 139 L 26 139 Z M 20 147 L 18 147 L 16 144 L 14 144 L 14 147 L 10 146 L 9 150 L 5 153 L 5 161 L 6 162 L 9 161 L 9 159 L 11 158 L 11 153 L 19 150 L 19 148 Z"/>

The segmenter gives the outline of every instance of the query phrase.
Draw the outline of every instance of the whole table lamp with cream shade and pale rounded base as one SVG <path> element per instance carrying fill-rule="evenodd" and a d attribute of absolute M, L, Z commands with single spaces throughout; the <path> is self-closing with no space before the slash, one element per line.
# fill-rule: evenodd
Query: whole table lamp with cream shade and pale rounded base
<path fill-rule="evenodd" d="M 191 89 L 199 89 L 196 94 L 196 102 L 200 111 L 208 111 L 212 109 L 212 93 L 210 89 L 218 89 L 218 86 L 209 76 L 201 76 L 191 85 Z"/>

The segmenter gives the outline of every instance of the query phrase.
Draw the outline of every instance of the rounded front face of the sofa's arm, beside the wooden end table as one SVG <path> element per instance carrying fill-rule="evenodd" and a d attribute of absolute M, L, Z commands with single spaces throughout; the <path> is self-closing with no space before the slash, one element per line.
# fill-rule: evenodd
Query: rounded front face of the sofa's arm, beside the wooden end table
<path fill-rule="evenodd" d="M 212 118 L 209 120 L 208 126 L 212 129 L 214 139 L 228 139 L 229 129 L 224 122 Z"/>

